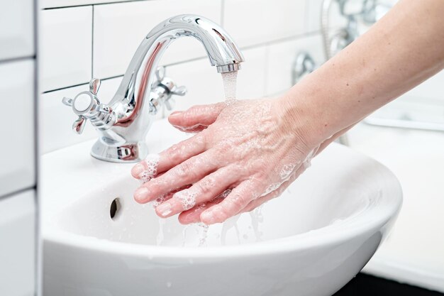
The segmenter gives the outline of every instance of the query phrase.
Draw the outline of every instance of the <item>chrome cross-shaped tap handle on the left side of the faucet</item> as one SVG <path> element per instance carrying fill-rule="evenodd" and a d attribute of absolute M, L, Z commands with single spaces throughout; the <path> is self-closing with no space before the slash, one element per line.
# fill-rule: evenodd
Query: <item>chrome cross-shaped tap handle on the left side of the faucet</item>
<path fill-rule="evenodd" d="M 109 128 L 113 124 L 113 111 L 109 106 L 101 104 L 99 98 L 96 96 L 99 92 L 100 80 L 93 78 L 89 81 L 89 91 L 77 94 L 74 99 L 64 97 L 62 103 L 71 106 L 74 114 L 79 116 L 72 124 L 72 130 L 75 133 L 82 133 L 87 119 L 91 124 L 101 130 Z"/>

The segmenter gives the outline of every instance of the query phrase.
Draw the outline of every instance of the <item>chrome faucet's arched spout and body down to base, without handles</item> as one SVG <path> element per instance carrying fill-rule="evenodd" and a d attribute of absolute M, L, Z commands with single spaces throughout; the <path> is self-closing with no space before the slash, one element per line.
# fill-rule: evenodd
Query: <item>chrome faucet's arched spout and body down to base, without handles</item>
<path fill-rule="evenodd" d="M 113 125 L 106 130 L 98 129 L 101 136 L 91 150 L 95 158 L 126 163 L 146 157 L 145 137 L 156 111 L 151 96 L 157 65 L 168 45 L 182 37 L 199 40 L 219 73 L 240 70 L 243 55 L 230 35 L 213 21 L 195 15 L 174 16 L 163 21 L 140 43 L 108 104 Z"/>

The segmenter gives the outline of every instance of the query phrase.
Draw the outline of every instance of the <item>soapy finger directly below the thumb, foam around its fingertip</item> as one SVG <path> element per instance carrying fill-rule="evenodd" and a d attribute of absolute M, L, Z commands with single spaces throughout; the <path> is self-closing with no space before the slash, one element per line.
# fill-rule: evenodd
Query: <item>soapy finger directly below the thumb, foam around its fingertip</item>
<path fill-rule="evenodd" d="M 206 150 L 205 135 L 201 133 L 174 144 L 160 154 L 148 155 L 145 160 L 142 160 L 131 169 L 131 175 L 136 179 L 145 178 L 149 181 L 160 172 L 170 170 L 175 165 L 204 152 L 204 150 Z"/>

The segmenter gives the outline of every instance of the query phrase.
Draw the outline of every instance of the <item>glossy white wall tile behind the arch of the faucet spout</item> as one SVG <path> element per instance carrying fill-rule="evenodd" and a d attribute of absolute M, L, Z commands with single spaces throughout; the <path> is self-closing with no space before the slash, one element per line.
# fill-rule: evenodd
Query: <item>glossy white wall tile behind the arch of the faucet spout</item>
<path fill-rule="evenodd" d="M 221 0 L 135 1 L 94 6 L 94 76 L 123 75 L 145 36 L 171 16 L 194 13 L 220 23 Z M 206 56 L 194 38 L 175 40 L 162 64 Z"/>

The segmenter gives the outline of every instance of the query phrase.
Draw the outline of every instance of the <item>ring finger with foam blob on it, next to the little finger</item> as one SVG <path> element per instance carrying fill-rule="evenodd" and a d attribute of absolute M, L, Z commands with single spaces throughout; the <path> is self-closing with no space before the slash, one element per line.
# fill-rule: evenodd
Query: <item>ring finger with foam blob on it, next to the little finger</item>
<path fill-rule="evenodd" d="M 238 175 L 233 174 L 232 167 L 220 168 L 194 183 L 188 190 L 174 194 L 172 199 L 157 207 L 156 213 L 162 218 L 167 218 L 192 209 L 196 204 L 209 202 L 224 192 L 238 178 Z"/>

